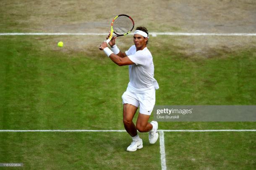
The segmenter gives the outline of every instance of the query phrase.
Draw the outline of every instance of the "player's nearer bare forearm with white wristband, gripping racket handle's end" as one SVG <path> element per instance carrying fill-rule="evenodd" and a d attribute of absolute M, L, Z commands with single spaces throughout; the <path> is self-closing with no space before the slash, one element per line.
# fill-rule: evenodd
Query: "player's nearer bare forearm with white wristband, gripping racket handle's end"
<path fill-rule="evenodd" d="M 113 51 L 111 51 L 108 47 L 107 47 L 107 43 L 103 42 L 100 45 L 100 49 L 103 50 L 106 55 L 114 62 L 116 63 L 118 66 L 126 66 L 126 65 L 131 65 L 134 64 L 129 58 L 128 56 L 126 56 L 126 54 L 123 53 L 118 53 L 119 55 L 115 54 Z M 122 56 L 122 57 L 121 57 Z"/>

